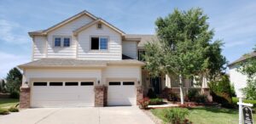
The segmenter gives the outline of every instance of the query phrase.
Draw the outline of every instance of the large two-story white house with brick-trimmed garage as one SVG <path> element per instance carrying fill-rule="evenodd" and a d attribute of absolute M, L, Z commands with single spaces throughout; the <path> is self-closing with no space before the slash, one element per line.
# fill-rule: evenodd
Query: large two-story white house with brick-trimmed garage
<path fill-rule="evenodd" d="M 136 105 L 148 88 L 178 89 L 177 76 L 151 78 L 142 69 L 154 35 L 125 34 L 87 11 L 29 36 L 32 62 L 19 65 L 21 108 Z M 201 86 L 188 80 L 184 87 Z"/>

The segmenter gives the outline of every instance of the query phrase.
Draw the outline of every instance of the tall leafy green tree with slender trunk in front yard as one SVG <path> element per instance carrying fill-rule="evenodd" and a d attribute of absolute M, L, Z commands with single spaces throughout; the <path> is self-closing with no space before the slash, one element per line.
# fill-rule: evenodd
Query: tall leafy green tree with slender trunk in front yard
<path fill-rule="evenodd" d="M 148 43 L 145 47 L 145 68 L 149 74 L 175 74 L 180 76 L 182 86 L 185 77 L 211 78 L 224 70 L 223 43 L 212 42 L 214 33 L 207 19 L 201 8 L 175 9 L 172 14 L 158 18 L 155 25 L 159 42 Z"/>

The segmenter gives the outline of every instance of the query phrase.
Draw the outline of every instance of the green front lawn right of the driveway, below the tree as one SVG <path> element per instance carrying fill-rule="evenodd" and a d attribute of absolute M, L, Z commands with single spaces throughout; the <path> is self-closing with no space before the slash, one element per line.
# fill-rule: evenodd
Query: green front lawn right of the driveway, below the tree
<path fill-rule="evenodd" d="M 154 116 L 163 120 L 164 109 L 151 110 Z M 217 107 L 196 107 L 189 109 L 189 121 L 195 124 L 234 124 L 238 123 L 238 110 L 224 109 Z M 253 121 L 256 122 L 256 115 L 253 115 Z"/>

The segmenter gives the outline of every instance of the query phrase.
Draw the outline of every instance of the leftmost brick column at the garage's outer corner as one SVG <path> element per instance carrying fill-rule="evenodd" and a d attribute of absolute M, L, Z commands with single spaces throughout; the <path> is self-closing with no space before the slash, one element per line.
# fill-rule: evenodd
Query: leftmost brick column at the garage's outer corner
<path fill-rule="evenodd" d="M 30 87 L 20 87 L 20 108 L 30 107 Z"/>

